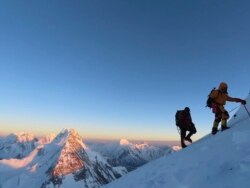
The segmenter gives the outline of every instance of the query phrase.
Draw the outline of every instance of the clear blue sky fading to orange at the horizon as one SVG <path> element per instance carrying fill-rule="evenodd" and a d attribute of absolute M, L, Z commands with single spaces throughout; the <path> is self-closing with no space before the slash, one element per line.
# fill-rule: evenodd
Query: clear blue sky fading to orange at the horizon
<path fill-rule="evenodd" d="M 247 0 L 1 1 L 0 135 L 74 128 L 86 139 L 175 140 L 175 112 L 188 106 L 199 139 L 212 128 L 213 87 L 226 82 L 243 99 L 250 91 L 249 8 Z"/>

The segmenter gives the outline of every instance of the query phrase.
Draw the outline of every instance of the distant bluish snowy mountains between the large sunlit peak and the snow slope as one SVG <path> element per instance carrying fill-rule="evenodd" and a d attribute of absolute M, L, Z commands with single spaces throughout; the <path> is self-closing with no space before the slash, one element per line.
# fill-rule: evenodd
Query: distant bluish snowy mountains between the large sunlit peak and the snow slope
<path fill-rule="evenodd" d="M 170 147 L 156 147 L 147 143 L 133 144 L 126 139 L 121 139 L 119 143 L 90 147 L 106 157 L 112 166 L 125 166 L 128 171 L 173 152 Z"/>

